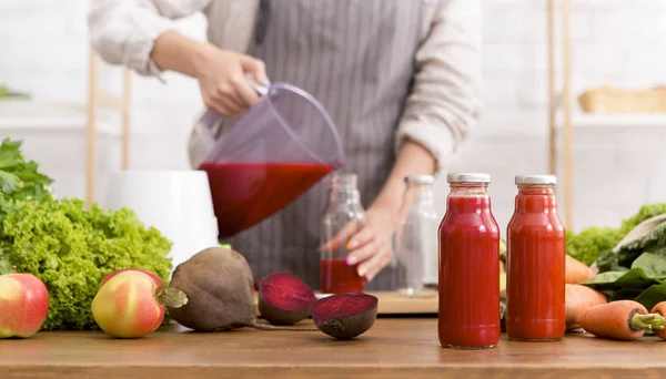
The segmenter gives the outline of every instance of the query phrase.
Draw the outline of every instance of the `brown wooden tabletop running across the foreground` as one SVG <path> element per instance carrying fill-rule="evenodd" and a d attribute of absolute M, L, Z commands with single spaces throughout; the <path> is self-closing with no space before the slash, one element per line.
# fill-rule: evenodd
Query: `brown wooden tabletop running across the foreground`
<path fill-rule="evenodd" d="M 304 322 L 309 325 L 309 322 Z M 503 337 L 504 338 L 504 337 Z M 658 378 L 666 341 L 567 336 L 491 350 L 440 348 L 435 318 L 380 318 L 356 340 L 319 331 L 39 332 L 0 340 L 0 378 Z"/>

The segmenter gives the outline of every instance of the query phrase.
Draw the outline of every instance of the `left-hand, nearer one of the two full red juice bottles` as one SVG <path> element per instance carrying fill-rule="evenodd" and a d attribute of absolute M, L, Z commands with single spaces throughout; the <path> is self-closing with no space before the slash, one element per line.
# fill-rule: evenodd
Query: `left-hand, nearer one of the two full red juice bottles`
<path fill-rule="evenodd" d="M 500 227 L 491 212 L 491 176 L 447 175 L 440 224 L 437 335 L 447 348 L 487 349 L 500 341 Z"/>

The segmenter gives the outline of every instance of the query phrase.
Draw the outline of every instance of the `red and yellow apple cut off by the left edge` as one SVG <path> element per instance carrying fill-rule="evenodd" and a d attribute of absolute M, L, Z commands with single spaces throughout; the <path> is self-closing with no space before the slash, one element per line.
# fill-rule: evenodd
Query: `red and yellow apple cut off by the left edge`
<path fill-rule="evenodd" d="M 47 286 L 32 274 L 0 276 L 0 338 L 29 338 L 49 311 Z"/>

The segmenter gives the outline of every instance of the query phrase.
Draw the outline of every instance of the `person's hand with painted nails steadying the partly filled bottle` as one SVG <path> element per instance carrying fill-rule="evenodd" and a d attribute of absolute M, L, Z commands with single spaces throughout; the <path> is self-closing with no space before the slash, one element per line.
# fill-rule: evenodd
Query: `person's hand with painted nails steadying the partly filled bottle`
<path fill-rule="evenodd" d="M 347 265 L 359 264 L 359 276 L 371 281 L 393 257 L 393 234 L 397 214 L 390 206 L 375 204 L 365 212 L 365 224 L 347 242 Z"/>

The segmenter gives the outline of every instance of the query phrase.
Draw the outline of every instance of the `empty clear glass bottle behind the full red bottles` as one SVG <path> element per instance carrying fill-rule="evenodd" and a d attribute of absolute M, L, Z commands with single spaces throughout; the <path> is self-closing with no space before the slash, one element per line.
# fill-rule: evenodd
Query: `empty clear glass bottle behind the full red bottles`
<path fill-rule="evenodd" d="M 437 227 L 432 175 L 405 177 L 401 227 L 396 233 L 398 290 L 404 297 L 433 297 L 437 286 Z"/>

